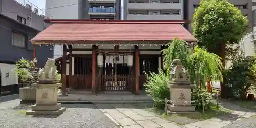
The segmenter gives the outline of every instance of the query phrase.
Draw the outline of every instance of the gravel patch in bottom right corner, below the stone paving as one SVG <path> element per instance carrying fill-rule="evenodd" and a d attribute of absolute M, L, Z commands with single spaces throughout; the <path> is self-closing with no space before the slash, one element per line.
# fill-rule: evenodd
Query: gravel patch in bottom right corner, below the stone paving
<path fill-rule="evenodd" d="M 240 121 L 234 122 L 232 124 L 228 124 L 227 126 L 224 126 L 223 128 L 256 128 L 256 118 L 250 117 L 241 119 Z"/>

